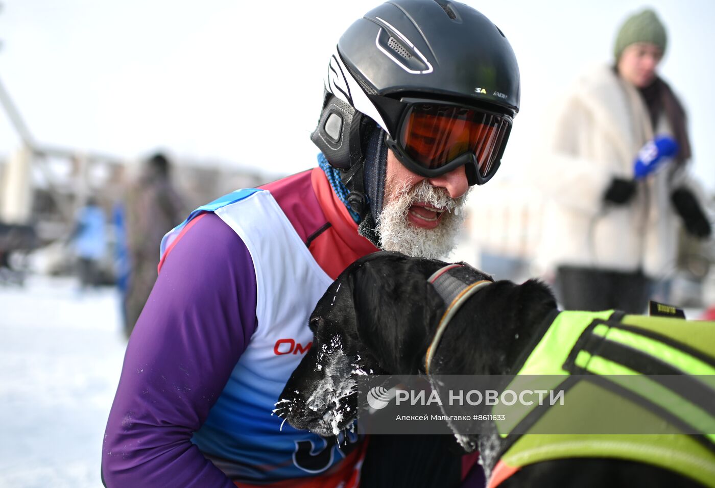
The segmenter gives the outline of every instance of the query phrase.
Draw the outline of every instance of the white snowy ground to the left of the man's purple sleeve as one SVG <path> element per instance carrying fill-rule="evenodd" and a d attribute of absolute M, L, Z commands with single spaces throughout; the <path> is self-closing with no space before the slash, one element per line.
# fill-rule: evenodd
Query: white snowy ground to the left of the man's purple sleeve
<path fill-rule="evenodd" d="M 124 347 L 117 292 L 74 279 L 0 285 L 0 487 L 102 487 Z"/>

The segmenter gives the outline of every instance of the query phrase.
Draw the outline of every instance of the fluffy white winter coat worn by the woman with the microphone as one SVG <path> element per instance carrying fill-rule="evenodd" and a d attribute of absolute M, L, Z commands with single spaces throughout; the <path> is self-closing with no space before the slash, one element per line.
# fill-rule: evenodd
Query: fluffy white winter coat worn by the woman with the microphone
<path fill-rule="evenodd" d="M 553 115 L 533 165 L 547 197 L 537 252 L 541 269 L 640 268 L 650 277 L 674 269 L 681 222 L 670 195 L 683 184 L 699 194 L 682 165 L 662 164 L 638 183 L 627 204 L 603 201 L 613 176 L 633 177 L 638 150 L 654 136 L 636 88 L 611 67 L 598 66 L 578 79 Z M 670 133 L 661 116 L 656 134 Z"/>

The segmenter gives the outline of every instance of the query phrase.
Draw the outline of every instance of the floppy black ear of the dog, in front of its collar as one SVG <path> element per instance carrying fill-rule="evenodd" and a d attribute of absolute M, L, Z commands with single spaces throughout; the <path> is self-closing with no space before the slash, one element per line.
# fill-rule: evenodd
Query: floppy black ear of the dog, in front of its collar
<path fill-rule="evenodd" d="M 385 256 L 363 263 L 353 276 L 360 339 L 380 367 L 393 374 L 417 374 L 444 310 L 427 282 L 427 264 Z"/>

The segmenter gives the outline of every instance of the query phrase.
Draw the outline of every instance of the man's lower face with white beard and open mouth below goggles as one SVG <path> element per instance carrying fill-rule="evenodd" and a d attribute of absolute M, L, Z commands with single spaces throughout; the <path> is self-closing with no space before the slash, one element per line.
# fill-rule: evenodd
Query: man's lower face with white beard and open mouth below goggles
<path fill-rule="evenodd" d="M 449 254 L 463 226 L 460 209 L 468 190 L 464 166 L 425 178 L 388 151 L 385 204 L 377 222 L 383 249 L 430 259 Z"/>

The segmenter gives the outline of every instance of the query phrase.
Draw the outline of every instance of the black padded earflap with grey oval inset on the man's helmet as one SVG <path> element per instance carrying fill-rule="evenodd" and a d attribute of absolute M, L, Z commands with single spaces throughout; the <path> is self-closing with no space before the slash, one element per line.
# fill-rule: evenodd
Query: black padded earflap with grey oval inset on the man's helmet
<path fill-rule="evenodd" d="M 325 159 L 338 169 L 350 169 L 350 127 L 355 109 L 330 95 L 323 106 L 320 121 L 310 139 L 325 155 Z M 355 147 L 353 146 L 353 151 Z"/>

